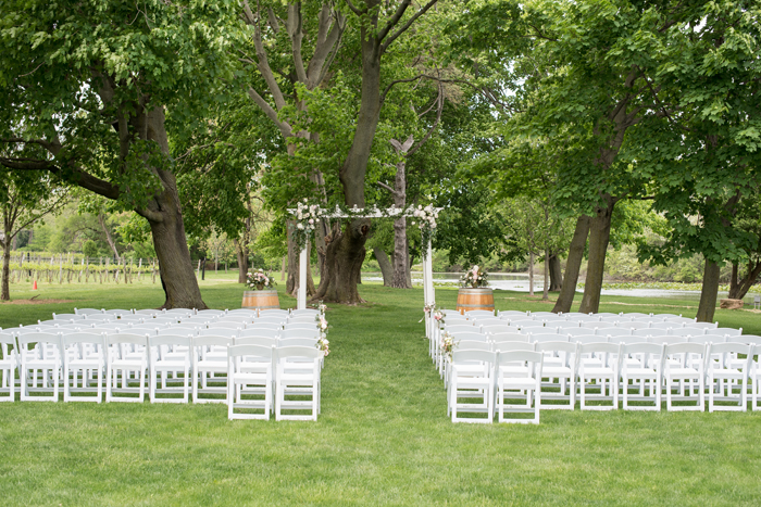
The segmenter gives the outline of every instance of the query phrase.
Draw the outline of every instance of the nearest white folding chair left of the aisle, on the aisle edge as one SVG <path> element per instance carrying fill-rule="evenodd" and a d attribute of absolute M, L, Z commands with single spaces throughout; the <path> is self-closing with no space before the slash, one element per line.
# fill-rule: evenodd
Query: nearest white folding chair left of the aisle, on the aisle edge
<path fill-rule="evenodd" d="M 278 346 L 275 348 L 275 420 L 316 421 L 320 414 L 323 352 L 314 346 Z M 311 400 L 294 400 L 295 396 Z M 309 410 L 311 414 L 284 414 L 283 410 Z"/>

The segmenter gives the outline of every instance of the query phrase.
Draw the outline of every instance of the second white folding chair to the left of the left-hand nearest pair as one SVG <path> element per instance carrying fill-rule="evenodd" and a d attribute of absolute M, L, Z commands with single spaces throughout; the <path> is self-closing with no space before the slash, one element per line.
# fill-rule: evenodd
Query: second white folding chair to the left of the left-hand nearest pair
<path fill-rule="evenodd" d="M 192 337 L 163 334 L 149 337 L 151 403 L 188 403 L 190 391 L 190 365 L 192 362 Z M 182 377 L 180 377 L 182 372 Z M 161 376 L 161 388 L 157 386 Z M 158 397 L 157 394 L 182 397 Z"/>

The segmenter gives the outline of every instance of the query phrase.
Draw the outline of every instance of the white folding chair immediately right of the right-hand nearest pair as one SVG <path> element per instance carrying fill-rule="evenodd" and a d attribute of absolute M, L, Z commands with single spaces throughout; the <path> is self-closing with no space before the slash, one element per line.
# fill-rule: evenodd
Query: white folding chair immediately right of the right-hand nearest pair
<path fill-rule="evenodd" d="M 541 398 L 539 408 L 573 410 L 576 405 L 576 351 L 577 343 L 567 341 L 538 342 L 536 351 L 542 353 Z M 548 379 L 547 382 L 544 379 Z M 558 379 L 553 382 L 553 379 Z M 552 391 L 547 391 L 550 389 Z M 556 391 L 557 390 L 557 391 Z M 567 394 L 566 394 L 567 393 Z M 544 403 L 544 401 L 565 401 L 566 403 Z"/>

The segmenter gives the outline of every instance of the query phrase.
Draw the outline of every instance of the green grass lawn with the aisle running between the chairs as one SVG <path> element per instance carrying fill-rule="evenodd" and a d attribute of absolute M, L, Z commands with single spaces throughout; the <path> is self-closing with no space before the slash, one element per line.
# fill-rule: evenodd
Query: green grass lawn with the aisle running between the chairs
<path fill-rule="evenodd" d="M 202 291 L 210 307 L 240 306 L 241 286 L 221 275 Z M 0 326 L 163 302 L 151 284 L 38 292 L 72 302 L 2 304 Z M 539 426 L 452 424 L 417 322 L 422 290 L 361 293 L 365 305 L 329 305 L 317 422 L 228 421 L 222 405 L 0 404 L 2 505 L 759 505 L 761 413 L 547 410 Z M 439 304 L 456 299 L 437 290 Z M 295 305 L 282 292 L 280 303 Z M 496 304 L 551 308 L 501 291 Z M 690 316 L 690 305 L 603 296 L 600 310 Z M 761 315 L 716 319 L 761 334 Z"/>

